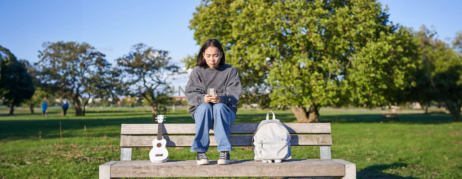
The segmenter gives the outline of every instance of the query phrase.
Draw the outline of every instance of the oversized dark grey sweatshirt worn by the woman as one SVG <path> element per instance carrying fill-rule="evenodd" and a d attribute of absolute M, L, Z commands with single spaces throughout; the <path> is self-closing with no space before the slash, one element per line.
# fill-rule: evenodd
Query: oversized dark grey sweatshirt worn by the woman
<path fill-rule="evenodd" d="M 237 101 L 241 97 L 241 81 L 236 67 L 225 64 L 217 68 L 196 66 L 186 85 L 186 101 L 191 107 L 188 112 L 194 119 L 196 108 L 204 102 L 204 96 L 208 88 L 214 88 L 220 97 L 220 102 L 225 103 L 234 113 L 237 112 Z"/>

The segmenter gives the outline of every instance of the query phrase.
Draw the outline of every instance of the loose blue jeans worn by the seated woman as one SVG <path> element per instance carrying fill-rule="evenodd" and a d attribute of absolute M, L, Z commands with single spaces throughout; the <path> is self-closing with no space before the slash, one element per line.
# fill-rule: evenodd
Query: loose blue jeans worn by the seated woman
<path fill-rule="evenodd" d="M 202 103 L 194 113 L 196 135 L 191 144 L 191 152 L 207 152 L 210 138 L 208 132 L 213 124 L 213 133 L 218 144 L 218 151 L 232 151 L 230 143 L 230 125 L 236 113 L 225 103 Z"/>

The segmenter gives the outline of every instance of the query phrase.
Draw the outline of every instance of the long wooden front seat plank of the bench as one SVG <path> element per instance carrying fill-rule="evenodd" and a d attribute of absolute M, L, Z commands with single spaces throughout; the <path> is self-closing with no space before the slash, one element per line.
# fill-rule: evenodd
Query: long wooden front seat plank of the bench
<path fill-rule="evenodd" d="M 260 163 L 252 160 L 232 160 L 230 165 L 197 165 L 195 160 L 119 161 L 111 166 L 111 177 L 286 177 L 344 176 L 345 164 L 334 160 L 291 160 L 282 163 Z"/>

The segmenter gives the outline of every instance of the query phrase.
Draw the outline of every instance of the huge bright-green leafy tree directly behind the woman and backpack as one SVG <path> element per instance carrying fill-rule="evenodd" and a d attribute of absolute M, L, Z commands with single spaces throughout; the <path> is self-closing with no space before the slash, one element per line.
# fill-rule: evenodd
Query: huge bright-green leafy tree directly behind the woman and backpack
<path fill-rule="evenodd" d="M 244 87 L 274 88 L 242 99 L 316 122 L 321 106 L 382 106 L 411 83 L 417 42 L 388 17 L 371 0 L 202 0 L 189 28 L 198 44 L 219 39 Z"/>

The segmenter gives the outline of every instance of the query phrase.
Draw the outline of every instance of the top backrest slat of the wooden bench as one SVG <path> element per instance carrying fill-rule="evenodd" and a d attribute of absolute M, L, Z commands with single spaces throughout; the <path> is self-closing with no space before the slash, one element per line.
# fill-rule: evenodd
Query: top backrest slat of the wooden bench
<path fill-rule="evenodd" d="M 195 134 L 195 124 L 163 124 L 164 134 Z M 330 123 L 285 123 L 291 134 L 330 134 Z M 157 124 L 122 124 L 122 135 L 155 135 Z M 231 134 L 253 134 L 258 124 L 231 124 Z M 213 134 L 213 130 L 210 130 Z"/>

